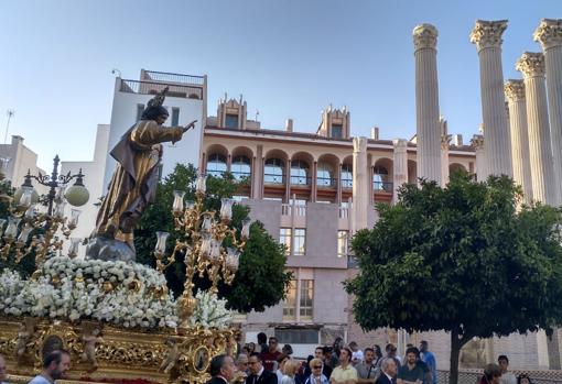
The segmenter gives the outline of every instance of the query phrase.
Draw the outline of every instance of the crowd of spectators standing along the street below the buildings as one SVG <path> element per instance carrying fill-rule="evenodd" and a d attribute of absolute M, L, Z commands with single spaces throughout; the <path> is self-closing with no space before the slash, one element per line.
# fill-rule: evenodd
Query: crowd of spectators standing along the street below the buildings
<path fill-rule="evenodd" d="M 290 344 L 279 347 L 275 337 L 268 340 L 259 333 L 258 343 L 244 345 L 236 360 L 214 359 L 212 374 L 220 376 L 223 363 L 233 364 L 221 382 L 209 384 L 437 384 L 435 355 L 424 340 L 419 348 L 408 344 L 403 356 L 392 343 L 382 353 L 379 345 L 360 350 L 356 342 L 344 345 L 341 338 L 333 345 L 316 347 L 306 361 L 293 359 Z M 516 377 L 508 365 L 508 358 L 500 355 L 498 364 L 486 366 L 478 384 L 532 384 L 526 374 Z"/>

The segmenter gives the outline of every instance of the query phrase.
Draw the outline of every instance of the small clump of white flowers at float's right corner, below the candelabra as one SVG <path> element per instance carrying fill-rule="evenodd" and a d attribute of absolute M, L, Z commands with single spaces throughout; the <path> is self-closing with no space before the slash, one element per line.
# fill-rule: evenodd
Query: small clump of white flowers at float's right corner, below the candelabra
<path fill-rule="evenodd" d="M 219 299 L 209 290 L 197 290 L 195 295 L 197 306 L 190 319 L 192 326 L 208 328 L 226 328 L 231 321 L 235 311 L 226 308 L 226 299 Z"/>

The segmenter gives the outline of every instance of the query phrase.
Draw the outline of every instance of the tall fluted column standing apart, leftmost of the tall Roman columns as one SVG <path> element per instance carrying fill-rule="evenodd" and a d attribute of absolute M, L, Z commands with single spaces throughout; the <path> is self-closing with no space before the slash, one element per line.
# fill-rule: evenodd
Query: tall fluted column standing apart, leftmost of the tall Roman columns
<path fill-rule="evenodd" d="M 431 24 L 413 29 L 415 56 L 415 124 L 418 177 L 441 184 L 439 127 L 437 30 Z"/>

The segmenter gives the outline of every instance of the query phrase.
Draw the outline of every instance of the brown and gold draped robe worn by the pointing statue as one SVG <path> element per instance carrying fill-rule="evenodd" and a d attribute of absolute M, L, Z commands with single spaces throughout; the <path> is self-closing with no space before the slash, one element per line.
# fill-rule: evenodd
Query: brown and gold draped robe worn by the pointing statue
<path fill-rule="evenodd" d="M 160 143 L 175 143 L 182 139 L 183 131 L 182 127 L 162 127 L 153 120 L 141 120 L 127 131 L 110 152 L 117 166 L 99 208 L 96 234 L 115 237 L 134 249 L 132 231 L 156 194 Z"/>

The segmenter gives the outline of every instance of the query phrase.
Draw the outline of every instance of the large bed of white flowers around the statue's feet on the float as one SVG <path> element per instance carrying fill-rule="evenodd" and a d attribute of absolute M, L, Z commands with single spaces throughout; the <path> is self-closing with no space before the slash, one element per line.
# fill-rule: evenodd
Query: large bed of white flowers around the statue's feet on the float
<path fill-rule="evenodd" d="M 163 274 L 141 264 L 54 256 L 37 277 L 0 275 L 0 312 L 75 321 L 90 318 L 126 328 L 174 328 L 175 300 Z"/>

